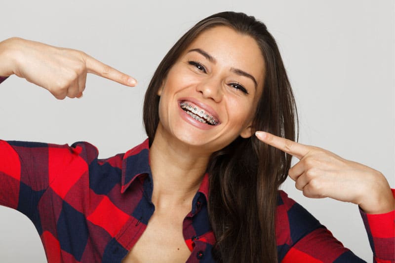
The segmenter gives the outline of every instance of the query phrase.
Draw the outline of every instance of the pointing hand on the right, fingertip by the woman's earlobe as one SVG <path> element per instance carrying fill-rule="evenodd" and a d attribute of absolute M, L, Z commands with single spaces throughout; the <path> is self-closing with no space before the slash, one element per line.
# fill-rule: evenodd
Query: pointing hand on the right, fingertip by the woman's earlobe
<path fill-rule="evenodd" d="M 295 156 L 300 161 L 289 169 L 295 187 L 311 198 L 330 197 L 358 204 L 368 214 L 394 210 L 394 197 L 382 173 L 314 146 L 273 134 L 255 133 L 262 142 Z"/>

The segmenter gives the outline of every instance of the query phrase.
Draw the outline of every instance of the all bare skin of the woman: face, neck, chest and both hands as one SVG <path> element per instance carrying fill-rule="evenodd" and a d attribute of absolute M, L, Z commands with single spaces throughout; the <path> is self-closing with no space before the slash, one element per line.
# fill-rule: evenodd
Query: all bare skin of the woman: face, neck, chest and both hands
<path fill-rule="evenodd" d="M 193 49 L 203 50 L 215 62 Z M 21 38 L 0 42 L 0 61 L 0 75 L 24 77 L 57 99 L 80 97 L 87 73 L 128 86 L 137 83 L 84 52 Z M 251 78 L 236 74 L 232 68 L 252 75 L 256 87 Z M 185 262 L 189 257 L 182 220 L 191 210 L 210 154 L 237 136 L 253 136 L 251 118 L 262 94 L 264 72 L 263 57 L 255 40 L 227 27 L 203 32 L 173 65 L 158 90 L 160 122 L 150 149 L 156 210 L 124 262 Z M 248 94 L 235 83 L 245 87 Z M 217 113 L 220 124 L 200 129 L 182 118 L 180 98 L 194 98 L 209 106 Z M 390 186 L 380 172 L 324 149 L 268 133 L 257 132 L 256 136 L 300 159 L 289 170 L 289 176 L 306 196 L 353 202 L 371 214 L 394 210 Z"/>

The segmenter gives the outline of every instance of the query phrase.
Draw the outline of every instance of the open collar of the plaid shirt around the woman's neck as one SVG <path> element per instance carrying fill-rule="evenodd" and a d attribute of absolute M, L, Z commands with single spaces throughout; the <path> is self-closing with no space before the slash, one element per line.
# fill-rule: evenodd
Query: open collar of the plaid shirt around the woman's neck
<path fill-rule="evenodd" d="M 121 193 L 124 193 L 133 181 L 141 175 L 147 174 L 152 182 L 149 150 L 149 141 L 146 139 L 142 144 L 126 151 L 123 155 Z M 208 200 L 208 179 L 208 173 L 205 173 L 197 190 L 204 195 L 206 201 Z"/>

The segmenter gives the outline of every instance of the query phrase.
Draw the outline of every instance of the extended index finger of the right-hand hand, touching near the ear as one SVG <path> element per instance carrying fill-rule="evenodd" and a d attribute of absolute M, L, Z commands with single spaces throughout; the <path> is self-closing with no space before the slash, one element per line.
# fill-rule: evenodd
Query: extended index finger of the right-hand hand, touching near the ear
<path fill-rule="evenodd" d="M 289 153 L 299 160 L 302 159 L 303 156 L 305 156 L 310 150 L 309 146 L 307 145 L 278 137 L 268 132 L 257 131 L 255 132 L 255 135 L 262 142 Z"/>

